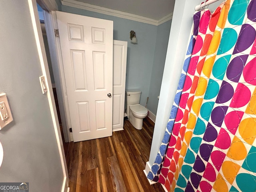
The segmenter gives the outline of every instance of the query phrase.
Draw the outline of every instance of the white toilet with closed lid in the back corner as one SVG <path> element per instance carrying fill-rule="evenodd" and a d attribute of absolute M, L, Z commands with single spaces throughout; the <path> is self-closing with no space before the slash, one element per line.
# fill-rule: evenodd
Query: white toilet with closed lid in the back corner
<path fill-rule="evenodd" d="M 140 90 L 126 90 L 128 120 L 136 129 L 142 129 L 143 118 L 148 115 L 146 107 L 140 105 Z"/>

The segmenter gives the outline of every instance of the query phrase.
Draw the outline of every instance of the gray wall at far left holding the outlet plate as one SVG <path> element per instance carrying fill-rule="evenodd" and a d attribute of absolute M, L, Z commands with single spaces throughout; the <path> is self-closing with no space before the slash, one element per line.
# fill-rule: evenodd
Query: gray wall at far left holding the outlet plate
<path fill-rule="evenodd" d="M 31 192 L 59 192 L 64 174 L 27 0 L 0 1 L 0 93 L 14 121 L 0 130 L 1 182 L 28 182 Z"/>

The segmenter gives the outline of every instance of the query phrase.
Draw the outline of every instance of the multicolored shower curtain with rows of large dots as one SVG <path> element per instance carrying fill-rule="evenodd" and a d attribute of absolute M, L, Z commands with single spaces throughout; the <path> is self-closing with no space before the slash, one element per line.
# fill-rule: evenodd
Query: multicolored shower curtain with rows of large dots
<path fill-rule="evenodd" d="M 256 191 L 256 0 L 194 14 L 150 180 L 174 192 Z"/>

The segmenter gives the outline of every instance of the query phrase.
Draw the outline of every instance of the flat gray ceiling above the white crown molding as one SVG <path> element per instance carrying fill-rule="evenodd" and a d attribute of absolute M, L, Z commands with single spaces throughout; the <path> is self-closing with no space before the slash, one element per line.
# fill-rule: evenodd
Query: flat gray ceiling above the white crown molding
<path fill-rule="evenodd" d="M 72 2 L 82 2 L 152 20 L 161 20 L 172 14 L 175 0 L 72 0 Z"/>

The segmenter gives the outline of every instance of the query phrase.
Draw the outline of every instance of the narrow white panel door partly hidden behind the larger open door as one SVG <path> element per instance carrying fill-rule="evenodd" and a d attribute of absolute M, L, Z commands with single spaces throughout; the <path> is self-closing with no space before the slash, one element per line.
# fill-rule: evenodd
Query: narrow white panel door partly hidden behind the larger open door
<path fill-rule="evenodd" d="M 119 131 L 124 129 L 127 42 L 114 40 L 113 52 L 113 131 Z"/>

